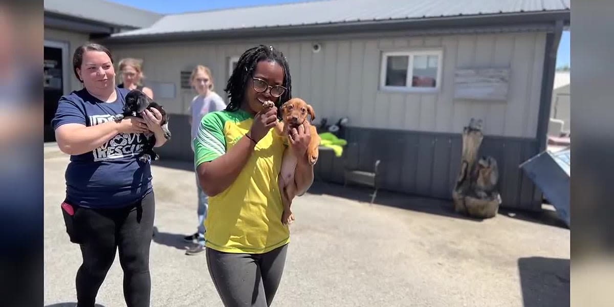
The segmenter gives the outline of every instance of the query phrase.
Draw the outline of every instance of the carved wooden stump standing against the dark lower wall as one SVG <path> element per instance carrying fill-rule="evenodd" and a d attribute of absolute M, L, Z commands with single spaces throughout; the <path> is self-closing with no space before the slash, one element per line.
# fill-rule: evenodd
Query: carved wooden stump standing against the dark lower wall
<path fill-rule="evenodd" d="M 495 188 L 499 168 L 493 157 L 476 157 L 484 138 L 481 120 L 471 119 L 462 133 L 461 169 L 452 198 L 454 211 L 470 217 L 488 219 L 497 215 L 501 196 Z"/>

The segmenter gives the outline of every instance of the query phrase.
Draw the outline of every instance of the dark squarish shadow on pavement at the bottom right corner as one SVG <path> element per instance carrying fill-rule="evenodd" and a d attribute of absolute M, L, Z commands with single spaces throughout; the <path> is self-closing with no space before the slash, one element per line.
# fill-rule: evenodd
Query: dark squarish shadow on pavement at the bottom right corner
<path fill-rule="evenodd" d="M 525 307 L 569 306 L 569 259 L 518 259 Z"/>

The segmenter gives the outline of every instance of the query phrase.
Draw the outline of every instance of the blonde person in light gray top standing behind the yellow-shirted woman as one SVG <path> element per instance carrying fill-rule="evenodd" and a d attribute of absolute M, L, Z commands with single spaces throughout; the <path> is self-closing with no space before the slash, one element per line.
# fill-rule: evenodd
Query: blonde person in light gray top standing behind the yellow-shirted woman
<path fill-rule="evenodd" d="M 222 97 L 214 91 L 213 75 L 211 74 L 211 69 L 207 66 L 197 65 L 192 70 L 190 83 L 198 93 L 192 99 L 188 109 L 190 112 L 188 122 L 192 126 L 191 140 L 193 140 L 198 136 L 198 127 L 204 115 L 209 112 L 222 111 L 226 108 L 226 104 Z M 190 141 L 190 144 L 192 144 L 192 151 L 194 151 L 193 142 Z M 198 214 L 198 227 L 196 233 L 184 238 L 187 242 L 195 243 L 195 246 L 188 248 L 185 252 L 186 255 L 197 255 L 204 251 L 204 233 L 206 231 L 204 219 L 207 217 L 209 200 L 198 182 L 198 177 L 196 177 L 196 189 L 198 191 L 198 209 L 196 210 Z"/>

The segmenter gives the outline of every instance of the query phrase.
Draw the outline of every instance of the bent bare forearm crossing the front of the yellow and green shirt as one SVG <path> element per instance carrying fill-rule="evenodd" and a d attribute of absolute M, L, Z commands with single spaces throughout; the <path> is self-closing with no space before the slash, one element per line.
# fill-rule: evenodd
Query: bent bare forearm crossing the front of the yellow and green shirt
<path fill-rule="evenodd" d="M 203 191 L 209 196 L 215 196 L 226 190 L 241 173 L 254 147 L 254 141 L 245 136 L 227 153 L 198 165 L 196 171 Z"/>

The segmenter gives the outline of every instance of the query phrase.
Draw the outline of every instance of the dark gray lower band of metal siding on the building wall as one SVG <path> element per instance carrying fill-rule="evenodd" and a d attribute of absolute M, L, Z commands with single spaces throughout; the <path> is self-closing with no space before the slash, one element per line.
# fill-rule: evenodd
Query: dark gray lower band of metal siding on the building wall
<path fill-rule="evenodd" d="M 169 128 L 173 139 L 156 149 L 161 160 L 193 161 L 187 115 L 171 115 Z M 461 134 L 349 127 L 345 138 L 349 146 L 342 157 L 321 150 L 316 179 L 343 184 L 346 165 L 371 170 L 380 159 L 383 189 L 451 199 L 461 163 Z M 354 149 L 358 154 L 349 155 Z M 492 155 L 497 160 L 502 207 L 529 211 L 541 208 L 542 194 L 519 168 L 536 153 L 535 139 L 484 137 L 480 155 Z"/>

